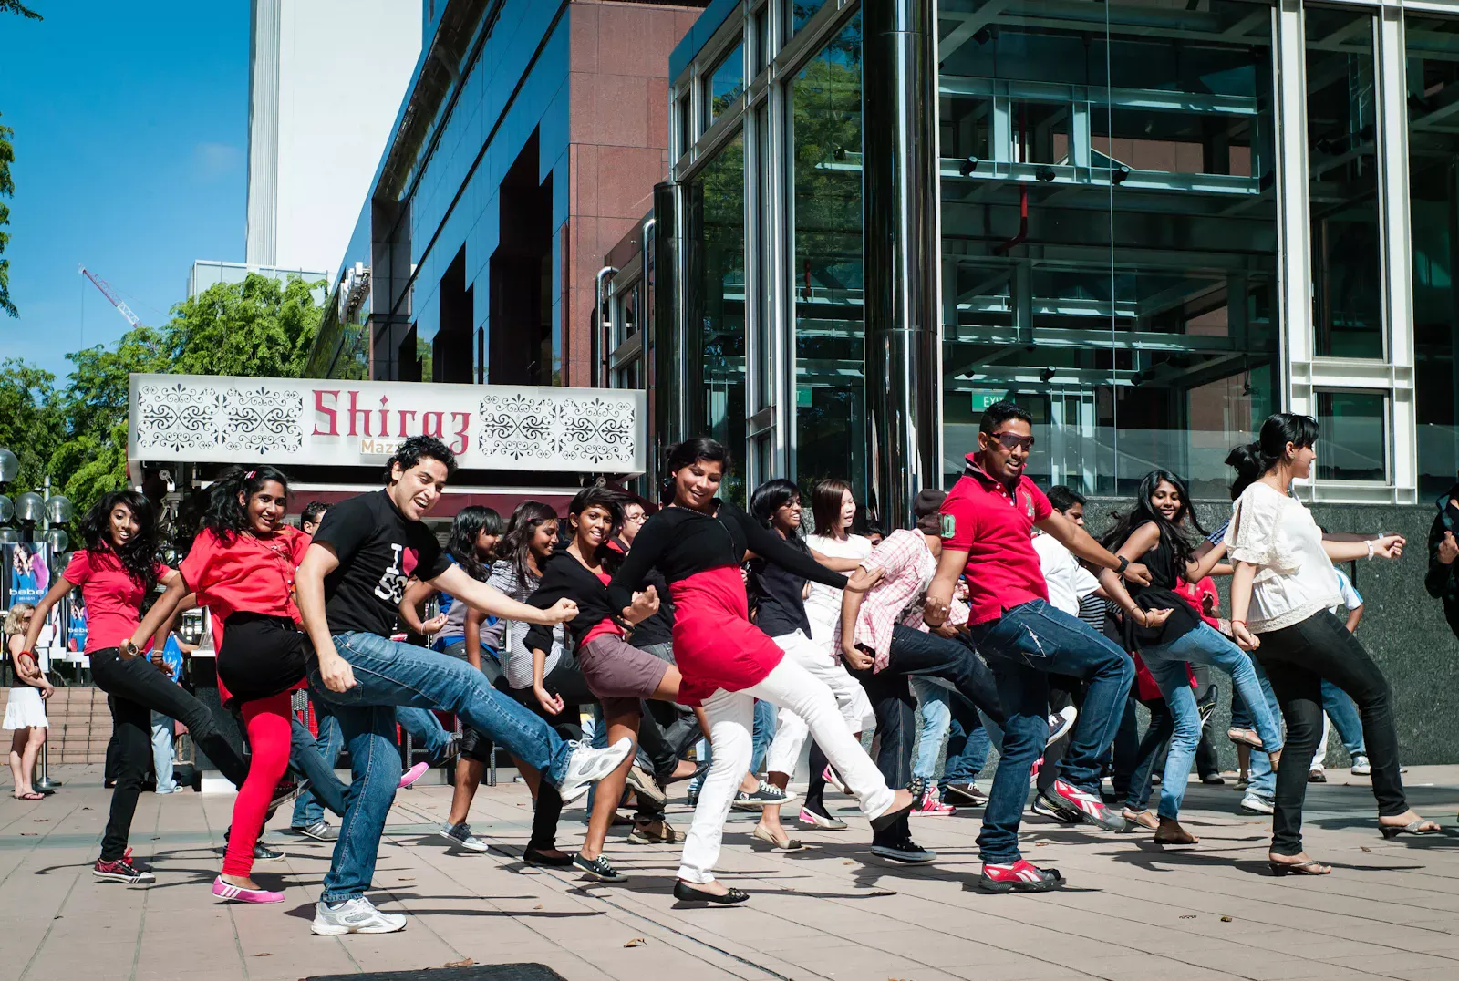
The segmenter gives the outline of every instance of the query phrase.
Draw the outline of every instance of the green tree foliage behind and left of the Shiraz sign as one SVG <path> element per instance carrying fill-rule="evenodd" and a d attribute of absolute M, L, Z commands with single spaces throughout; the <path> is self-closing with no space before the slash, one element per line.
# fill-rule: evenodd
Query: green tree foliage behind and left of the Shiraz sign
<path fill-rule="evenodd" d="M 38 368 L 0 362 L 0 445 L 20 457 L 26 489 L 51 474 L 77 511 L 127 486 L 133 374 L 298 378 L 320 326 L 318 283 L 251 274 L 172 308 L 162 327 L 134 327 L 109 346 L 66 355 L 66 387 Z"/>

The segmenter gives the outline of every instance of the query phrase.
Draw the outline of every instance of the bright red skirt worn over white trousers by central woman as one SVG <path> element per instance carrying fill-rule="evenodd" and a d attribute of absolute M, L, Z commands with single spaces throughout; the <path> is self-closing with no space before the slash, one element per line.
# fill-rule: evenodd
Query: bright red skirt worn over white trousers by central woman
<path fill-rule="evenodd" d="M 678 701 L 699 705 L 715 689 L 759 685 L 785 651 L 750 622 L 740 569 L 696 572 L 670 585 L 674 596 L 674 664 L 683 676 Z"/>

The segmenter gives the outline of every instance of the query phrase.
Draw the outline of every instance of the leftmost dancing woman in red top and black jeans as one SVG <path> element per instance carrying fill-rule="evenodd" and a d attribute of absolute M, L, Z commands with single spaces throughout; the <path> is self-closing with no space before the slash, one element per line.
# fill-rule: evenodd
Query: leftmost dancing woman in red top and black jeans
<path fill-rule="evenodd" d="M 136 490 L 114 490 L 82 520 L 80 537 L 85 547 L 71 556 L 70 565 L 35 607 L 25 650 L 35 648 L 50 609 L 80 587 L 89 615 L 86 654 L 90 655 L 96 686 L 112 696 L 111 721 L 121 750 L 111 816 L 92 874 L 109 882 L 155 882 L 150 869 L 131 861 L 131 848 L 127 847 L 131 815 L 152 765 L 152 712 L 162 712 L 187 726 L 198 749 L 235 785 L 242 785 L 248 766 L 217 728 L 212 709 L 182 690 L 181 685 L 168 680 L 166 669 L 143 657 L 156 628 L 166 620 L 159 620 L 149 632 L 142 631 L 137 625 L 142 603 L 158 582 L 171 585 L 178 580 L 177 572 L 156 559 L 158 528 L 152 502 Z"/>

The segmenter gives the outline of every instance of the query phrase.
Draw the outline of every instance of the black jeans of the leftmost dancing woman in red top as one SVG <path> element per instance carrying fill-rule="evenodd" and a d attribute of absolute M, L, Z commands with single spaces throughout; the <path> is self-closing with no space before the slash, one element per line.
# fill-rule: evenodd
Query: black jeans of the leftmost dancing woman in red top
<path fill-rule="evenodd" d="M 193 742 L 207 753 L 235 787 L 242 787 L 248 765 L 217 727 L 213 712 L 182 690 L 144 657 L 123 660 L 109 647 L 92 654 L 92 677 L 111 695 L 111 724 L 117 736 L 117 790 L 111 796 L 111 816 L 101 839 L 104 861 L 115 861 L 127 851 L 131 816 L 137 810 L 142 784 L 152 768 L 152 712 L 187 726 Z M 1310 755 L 1310 753 L 1309 753 Z"/>

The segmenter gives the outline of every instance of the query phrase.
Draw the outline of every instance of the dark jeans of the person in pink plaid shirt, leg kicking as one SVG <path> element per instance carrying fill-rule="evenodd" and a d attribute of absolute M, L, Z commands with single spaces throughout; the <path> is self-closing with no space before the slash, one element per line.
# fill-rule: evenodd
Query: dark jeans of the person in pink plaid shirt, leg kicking
<path fill-rule="evenodd" d="M 912 753 L 916 749 L 916 696 L 907 679 L 937 677 L 951 682 L 959 695 L 976 705 L 995 726 L 1002 727 L 994 673 L 960 641 L 897 625 L 891 631 L 887 666 L 851 672 L 861 682 L 877 714 L 877 768 L 889 787 L 906 787 L 912 780 Z M 909 832 L 905 820 L 875 838 L 902 838 Z"/>

